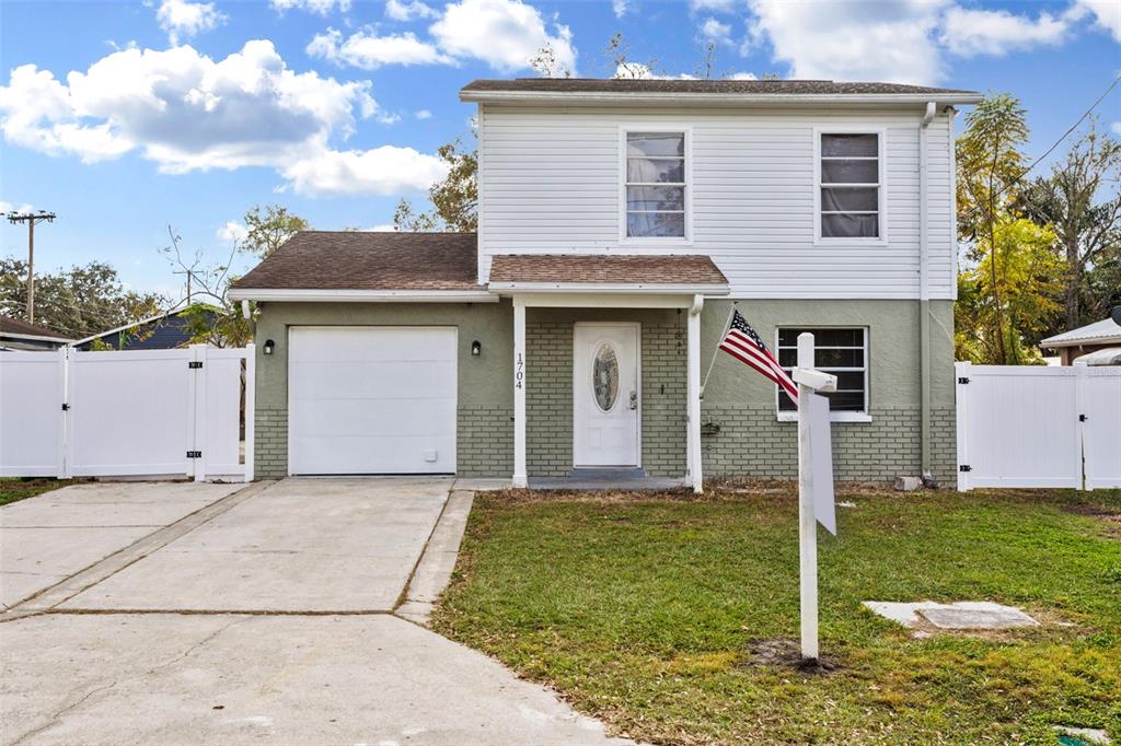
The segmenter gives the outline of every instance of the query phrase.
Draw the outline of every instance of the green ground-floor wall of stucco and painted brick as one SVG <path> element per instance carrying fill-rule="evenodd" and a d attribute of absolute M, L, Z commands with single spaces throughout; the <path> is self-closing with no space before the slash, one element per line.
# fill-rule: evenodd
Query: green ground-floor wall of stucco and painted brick
<path fill-rule="evenodd" d="M 702 315 L 702 375 L 732 301 L 710 300 Z M 919 439 L 919 304 L 912 300 L 740 300 L 736 307 L 770 345 L 775 327 L 867 326 L 870 422 L 834 423 L 839 479 L 887 481 L 917 475 Z M 956 468 L 953 306 L 930 302 L 932 463 L 953 485 Z M 572 470 L 573 324 L 630 320 L 642 325 L 642 466 L 657 476 L 685 470 L 685 313 L 630 309 L 527 311 L 527 466 L 530 476 Z M 457 326 L 457 454 L 465 476 L 509 476 L 513 468 L 510 385 L 513 311 L 500 304 L 266 304 L 257 327 L 257 474 L 287 473 L 287 327 L 294 325 Z M 276 352 L 261 347 L 274 339 Z M 482 355 L 471 356 L 471 343 Z M 796 475 L 793 422 L 778 422 L 775 390 L 747 366 L 719 355 L 702 403 L 705 476 L 790 478 Z"/>

